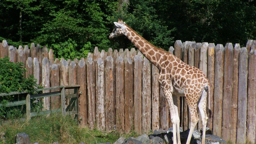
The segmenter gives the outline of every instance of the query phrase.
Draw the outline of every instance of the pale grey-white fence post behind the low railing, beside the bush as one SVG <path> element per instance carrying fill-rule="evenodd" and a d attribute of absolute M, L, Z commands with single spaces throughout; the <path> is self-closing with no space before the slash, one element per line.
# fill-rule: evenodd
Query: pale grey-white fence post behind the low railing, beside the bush
<path fill-rule="evenodd" d="M 42 60 L 42 86 L 44 88 L 50 87 L 50 64 L 48 58 Z M 43 93 L 47 92 L 43 91 Z M 44 97 L 43 103 L 43 110 L 50 110 L 50 97 Z"/>

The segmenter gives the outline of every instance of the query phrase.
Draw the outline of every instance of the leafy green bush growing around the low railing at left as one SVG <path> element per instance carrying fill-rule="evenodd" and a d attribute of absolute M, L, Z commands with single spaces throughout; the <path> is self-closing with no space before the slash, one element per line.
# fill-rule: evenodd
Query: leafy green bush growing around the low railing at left
<path fill-rule="evenodd" d="M 14 63 L 8 57 L 0 58 L 0 93 L 23 92 L 35 94 L 36 88 L 40 85 L 36 84 L 37 80 L 33 75 L 25 78 L 26 69 L 22 62 Z M 26 95 L 8 95 L 0 97 L 0 117 L 20 117 L 26 108 L 6 107 L 10 101 L 25 100 Z M 32 107 L 32 106 L 31 106 Z M 36 107 L 36 106 L 34 106 Z M 33 108 L 34 108 L 33 107 Z"/>

